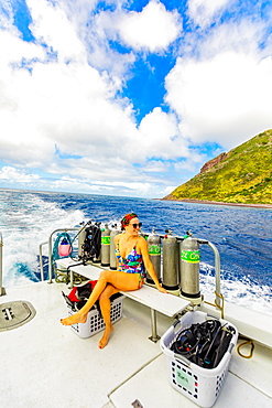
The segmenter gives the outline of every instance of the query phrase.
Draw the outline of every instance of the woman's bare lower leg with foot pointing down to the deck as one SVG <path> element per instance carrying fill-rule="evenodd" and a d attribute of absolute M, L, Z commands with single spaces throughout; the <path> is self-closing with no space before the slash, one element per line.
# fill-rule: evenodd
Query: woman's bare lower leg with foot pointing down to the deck
<path fill-rule="evenodd" d="M 110 297 L 118 292 L 119 292 L 118 289 L 116 289 L 111 284 L 108 284 L 99 298 L 99 304 L 106 326 L 104 335 L 99 342 L 99 348 L 104 348 L 108 344 L 110 333 L 113 331 L 113 325 L 110 320 L 110 307 L 111 307 Z"/>

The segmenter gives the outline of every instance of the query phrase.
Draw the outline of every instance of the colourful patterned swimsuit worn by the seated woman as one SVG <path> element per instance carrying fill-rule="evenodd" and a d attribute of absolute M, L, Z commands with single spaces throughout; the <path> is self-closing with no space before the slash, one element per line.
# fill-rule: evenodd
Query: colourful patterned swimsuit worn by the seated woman
<path fill-rule="evenodd" d="M 116 256 L 119 260 L 119 271 L 127 273 L 140 273 L 142 278 L 145 278 L 145 271 L 143 268 L 142 255 L 137 253 L 137 244 L 133 246 L 131 251 L 126 258 L 122 258 L 119 250 L 119 243 L 117 244 Z"/>

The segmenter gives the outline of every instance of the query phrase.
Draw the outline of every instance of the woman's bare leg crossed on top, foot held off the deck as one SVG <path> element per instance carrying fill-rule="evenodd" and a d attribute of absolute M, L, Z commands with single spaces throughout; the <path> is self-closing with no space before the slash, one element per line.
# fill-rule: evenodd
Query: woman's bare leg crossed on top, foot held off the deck
<path fill-rule="evenodd" d="M 111 284 L 119 290 L 137 290 L 139 288 L 139 273 L 124 273 L 117 271 L 104 270 L 95 286 L 89 299 L 85 305 L 75 314 L 66 319 L 61 319 L 64 325 L 72 325 L 75 323 L 85 323 L 88 311 L 95 304 L 95 301 L 100 297 L 107 284 Z"/>

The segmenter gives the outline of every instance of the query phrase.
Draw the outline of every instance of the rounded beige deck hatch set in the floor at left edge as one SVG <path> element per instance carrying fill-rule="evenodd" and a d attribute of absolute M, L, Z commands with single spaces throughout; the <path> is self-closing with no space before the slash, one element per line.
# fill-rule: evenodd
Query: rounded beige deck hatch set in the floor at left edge
<path fill-rule="evenodd" d="M 0 332 L 20 328 L 36 314 L 30 302 L 14 301 L 0 304 Z"/>

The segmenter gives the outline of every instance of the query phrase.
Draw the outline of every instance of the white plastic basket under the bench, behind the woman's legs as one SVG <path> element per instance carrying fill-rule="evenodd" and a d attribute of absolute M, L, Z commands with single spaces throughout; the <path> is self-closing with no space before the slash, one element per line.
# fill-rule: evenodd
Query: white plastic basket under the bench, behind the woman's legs
<path fill-rule="evenodd" d="M 116 298 L 111 301 L 110 319 L 111 323 L 116 323 L 122 316 L 122 301 L 123 294 L 116 294 Z M 75 312 L 68 307 L 68 314 L 75 314 Z M 97 307 L 94 305 L 89 311 L 86 323 L 76 323 L 70 329 L 79 335 L 79 337 L 90 337 L 96 333 L 105 329 L 104 319 L 100 318 Z"/>

